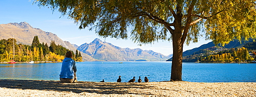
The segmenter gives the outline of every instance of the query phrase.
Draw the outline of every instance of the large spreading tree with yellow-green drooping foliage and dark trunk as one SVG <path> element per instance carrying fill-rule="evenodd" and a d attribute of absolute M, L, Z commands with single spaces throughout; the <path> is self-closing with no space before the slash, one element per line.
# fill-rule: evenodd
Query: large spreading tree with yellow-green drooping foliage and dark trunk
<path fill-rule="evenodd" d="M 171 80 L 182 80 L 183 44 L 198 38 L 227 44 L 255 38 L 255 0 L 36 0 L 102 37 L 139 44 L 172 41 Z M 202 32 L 202 33 L 201 33 Z"/>

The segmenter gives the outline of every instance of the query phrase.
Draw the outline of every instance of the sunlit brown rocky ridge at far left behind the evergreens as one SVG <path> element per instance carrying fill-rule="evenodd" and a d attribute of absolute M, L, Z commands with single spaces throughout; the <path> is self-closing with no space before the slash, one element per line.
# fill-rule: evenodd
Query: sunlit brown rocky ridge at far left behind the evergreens
<path fill-rule="evenodd" d="M 0 34 L 0 39 L 14 37 L 18 43 L 28 45 L 31 45 L 34 36 L 38 36 L 41 42 L 50 44 L 51 41 L 54 41 L 56 44 L 68 48 L 68 45 L 56 34 L 42 31 L 39 28 L 33 28 L 27 22 L 2 24 L 0 25 Z"/>

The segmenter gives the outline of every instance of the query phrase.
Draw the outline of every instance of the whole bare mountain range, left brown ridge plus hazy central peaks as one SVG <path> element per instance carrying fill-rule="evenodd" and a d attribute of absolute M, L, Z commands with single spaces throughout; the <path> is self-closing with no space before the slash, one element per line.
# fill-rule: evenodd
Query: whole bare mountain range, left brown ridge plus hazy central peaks
<path fill-rule="evenodd" d="M 91 43 L 80 46 L 61 40 L 56 34 L 33 28 L 27 22 L 8 23 L 0 25 L 0 39 L 15 38 L 17 43 L 31 45 L 33 37 L 38 36 L 40 42 L 50 44 L 54 41 L 75 52 L 79 50 L 83 61 L 165 61 L 172 55 L 164 56 L 154 51 L 141 50 L 140 48 L 121 48 L 108 42 L 95 39 Z"/>

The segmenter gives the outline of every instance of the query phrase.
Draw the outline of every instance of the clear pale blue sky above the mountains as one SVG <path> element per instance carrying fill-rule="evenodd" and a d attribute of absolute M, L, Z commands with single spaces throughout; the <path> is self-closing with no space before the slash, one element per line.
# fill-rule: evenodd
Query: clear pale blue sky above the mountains
<path fill-rule="evenodd" d="M 122 40 L 115 38 L 100 38 L 94 31 L 88 29 L 79 30 L 73 20 L 67 16 L 61 16 L 57 11 L 52 12 L 50 8 L 41 7 L 37 4 L 32 5 L 34 0 L 0 0 L 0 24 L 10 22 L 28 22 L 32 27 L 39 28 L 46 32 L 56 34 L 64 41 L 80 46 L 83 43 L 90 43 L 95 38 L 102 41 L 110 42 L 113 45 L 125 48 L 141 48 L 142 50 L 153 50 L 163 55 L 173 54 L 172 42 L 158 41 L 154 44 L 138 46 L 132 40 Z M 204 39 L 200 39 L 198 43 L 190 43 L 189 46 L 184 45 L 183 51 L 199 47 L 208 43 Z"/>

